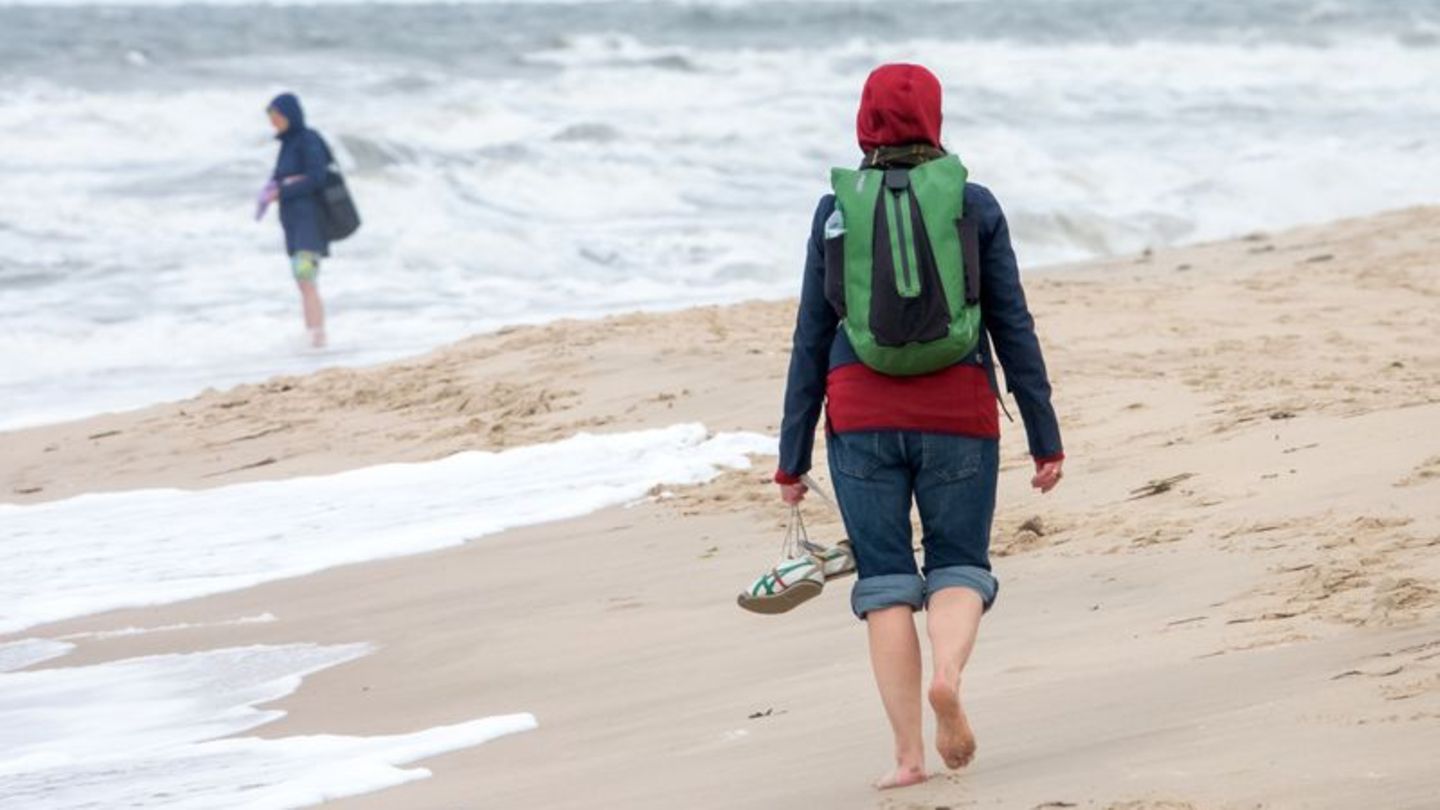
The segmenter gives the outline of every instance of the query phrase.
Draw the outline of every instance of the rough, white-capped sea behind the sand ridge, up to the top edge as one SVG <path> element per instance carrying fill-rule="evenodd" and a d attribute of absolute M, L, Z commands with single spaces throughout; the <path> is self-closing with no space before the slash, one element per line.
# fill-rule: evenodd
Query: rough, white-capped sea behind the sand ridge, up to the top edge
<path fill-rule="evenodd" d="M 0 425 L 796 290 L 865 74 L 932 66 L 1027 267 L 1434 202 L 1440 0 L 0 0 Z M 294 89 L 366 223 L 302 347 Z"/>

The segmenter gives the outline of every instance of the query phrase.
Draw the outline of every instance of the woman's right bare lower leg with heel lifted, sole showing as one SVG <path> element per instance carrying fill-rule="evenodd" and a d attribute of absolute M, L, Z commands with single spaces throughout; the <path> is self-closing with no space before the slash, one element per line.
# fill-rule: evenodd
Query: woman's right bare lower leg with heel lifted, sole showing
<path fill-rule="evenodd" d="M 943 588 L 930 597 L 927 628 L 935 659 L 930 708 L 935 709 L 935 748 L 949 768 L 975 758 L 975 732 L 960 705 L 960 673 L 975 649 L 985 602 L 969 588 Z"/>

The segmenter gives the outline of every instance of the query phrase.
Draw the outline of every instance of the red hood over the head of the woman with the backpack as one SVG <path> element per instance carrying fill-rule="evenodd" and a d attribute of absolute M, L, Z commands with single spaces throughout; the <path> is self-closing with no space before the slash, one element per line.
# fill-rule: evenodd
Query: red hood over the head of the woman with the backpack
<path fill-rule="evenodd" d="M 855 117 L 860 148 L 940 146 L 940 81 L 920 65 L 881 65 L 865 79 Z"/>

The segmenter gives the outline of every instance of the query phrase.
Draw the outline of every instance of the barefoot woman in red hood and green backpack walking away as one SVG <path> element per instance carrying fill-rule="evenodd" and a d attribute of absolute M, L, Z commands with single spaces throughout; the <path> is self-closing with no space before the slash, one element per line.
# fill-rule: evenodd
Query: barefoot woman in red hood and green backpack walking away
<path fill-rule="evenodd" d="M 926 778 L 914 611 L 926 610 L 927 698 L 950 768 L 975 755 L 960 673 L 995 601 L 989 530 L 999 470 L 994 359 L 1005 369 L 1035 461 L 1060 483 L 1050 382 L 999 203 L 940 147 L 940 84 L 884 65 L 857 118 L 864 163 L 837 169 L 811 228 L 775 481 L 799 503 L 821 406 L 831 477 L 860 578 L 851 592 L 894 732 L 877 787 Z M 924 565 L 912 551 L 920 510 Z"/>

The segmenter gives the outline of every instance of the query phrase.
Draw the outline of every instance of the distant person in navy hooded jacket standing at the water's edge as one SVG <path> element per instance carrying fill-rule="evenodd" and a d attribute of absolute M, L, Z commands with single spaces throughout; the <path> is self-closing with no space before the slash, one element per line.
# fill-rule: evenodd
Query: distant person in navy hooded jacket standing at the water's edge
<path fill-rule="evenodd" d="M 325 215 L 320 205 L 320 193 L 325 187 L 330 172 L 330 148 L 320 133 L 305 125 L 305 111 L 295 94 L 276 95 L 266 108 L 275 137 L 279 140 L 279 156 L 269 183 L 261 190 L 256 219 L 272 202 L 279 202 L 279 223 L 285 229 L 285 252 L 289 268 L 300 287 L 301 307 L 305 314 L 305 329 L 310 343 L 325 344 L 325 308 L 320 301 L 320 259 L 330 255 L 330 241 L 325 238 Z"/>

